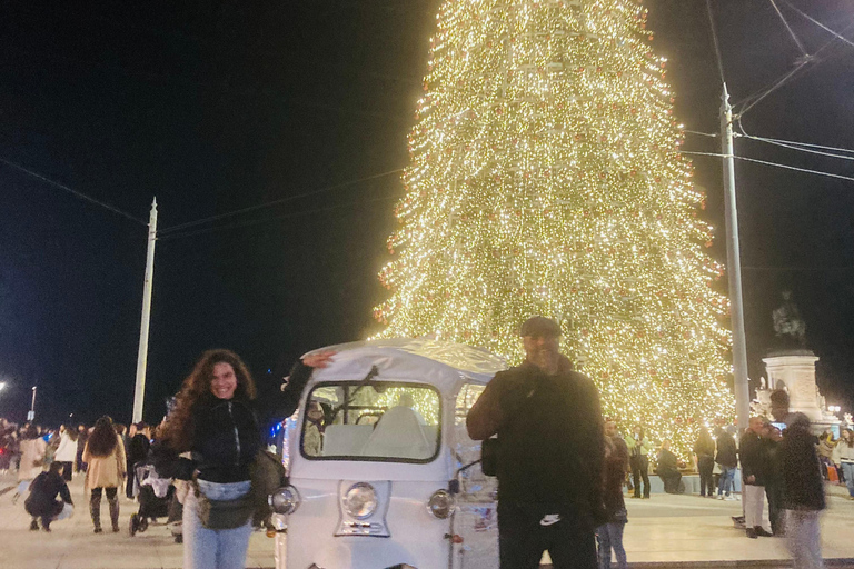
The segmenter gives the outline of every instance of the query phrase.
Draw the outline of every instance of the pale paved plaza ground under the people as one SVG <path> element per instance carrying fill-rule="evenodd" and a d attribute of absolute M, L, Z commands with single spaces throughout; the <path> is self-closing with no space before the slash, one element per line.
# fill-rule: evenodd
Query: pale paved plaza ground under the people
<path fill-rule="evenodd" d="M 11 476 L 0 477 L 0 491 L 12 487 Z M 178 569 L 182 546 L 166 527 L 151 527 L 129 537 L 128 519 L 137 506 L 122 499 L 120 533 L 107 529 L 93 535 L 82 480 L 71 492 L 77 511 L 56 522 L 51 533 L 29 531 L 21 501 L 12 505 L 13 490 L 0 495 L 0 568 L 2 569 Z M 830 507 L 823 515 L 822 541 L 828 566 L 854 567 L 854 501 L 840 487 L 828 487 Z M 625 546 L 632 567 L 785 567 L 785 542 L 778 538 L 748 539 L 733 527 L 731 516 L 741 502 L 697 496 L 653 495 L 651 500 L 626 500 L 629 523 Z M 106 500 L 102 517 L 109 519 Z M 107 528 L 109 521 L 107 521 Z M 274 540 L 252 535 L 247 567 L 272 568 Z M 835 561 L 834 561 L 835 560 Z M 850 560 L 852 560 L 850 562 Z"/>

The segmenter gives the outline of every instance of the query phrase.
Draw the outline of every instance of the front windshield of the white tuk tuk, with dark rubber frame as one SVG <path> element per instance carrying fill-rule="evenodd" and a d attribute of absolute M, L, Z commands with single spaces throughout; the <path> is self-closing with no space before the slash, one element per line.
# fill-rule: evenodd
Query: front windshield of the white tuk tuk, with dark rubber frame
<path fill-rule="evenodd" d="M 440 417 L 439 392 L 427 385 L 319 383 L 306 400 L 300 450 L 309 460 L 429 462 Z"/>

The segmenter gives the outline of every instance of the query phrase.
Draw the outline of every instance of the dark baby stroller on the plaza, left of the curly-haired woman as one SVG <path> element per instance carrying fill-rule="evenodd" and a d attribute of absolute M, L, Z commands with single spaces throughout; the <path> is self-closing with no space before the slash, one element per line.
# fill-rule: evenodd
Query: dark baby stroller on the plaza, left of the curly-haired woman
<path fill-rule="evenodd" d="M 155 466 L 148 461 L 133 465 L 133 473 L 139 511 L 130 517 L 130 537 L 146 531 L 149 522 L 156 523 L 158 518 L 166 518 L 165 523 L 171 525 L 175 542 L 182 542 L 182 508 L 175 496 L 172 479 L 160 477 Z"/>

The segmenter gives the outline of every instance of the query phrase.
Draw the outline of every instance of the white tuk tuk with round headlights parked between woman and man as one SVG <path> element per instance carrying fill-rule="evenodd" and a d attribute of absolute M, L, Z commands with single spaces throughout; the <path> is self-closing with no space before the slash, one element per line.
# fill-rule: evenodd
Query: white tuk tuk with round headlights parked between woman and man
<path fill-rule="evenodd" d="M 330 346 L 286 436 L 277 569 L 491 569 L 497 483 L 466 416 L 505 360 L 427 339 Z M 319 350 L 318 350 L 319 351 Z"/>

